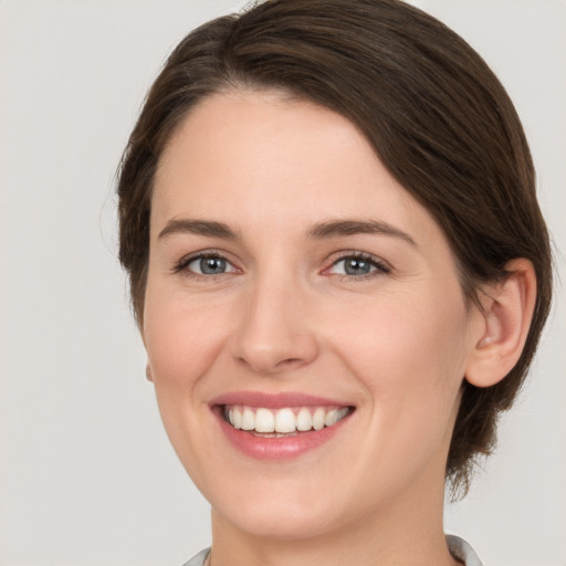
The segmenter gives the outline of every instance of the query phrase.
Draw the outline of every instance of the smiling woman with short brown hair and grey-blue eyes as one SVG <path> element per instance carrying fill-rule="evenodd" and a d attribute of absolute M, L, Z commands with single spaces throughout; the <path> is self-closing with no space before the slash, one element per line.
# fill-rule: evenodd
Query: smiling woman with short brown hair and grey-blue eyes
<path fill-rule="evenodd" d="M 120 260 L 212 505 L 191 566 L 480 564 L 444 537 L 534 355 L 548 237 L 485 63 L 396 0 L 209 22 L 151 87 Z"/>

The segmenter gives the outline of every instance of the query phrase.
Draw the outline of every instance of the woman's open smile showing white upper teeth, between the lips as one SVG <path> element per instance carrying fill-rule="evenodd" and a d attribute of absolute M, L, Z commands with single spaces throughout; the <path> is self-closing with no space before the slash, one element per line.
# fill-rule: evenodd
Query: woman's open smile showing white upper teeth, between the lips
<path fill-rule="evenodd" d="M 223 405 L 222 418 L 232 428 L 263 438 L 293 437 L 334 427 L 348 417 L 354 407 L 249 407 Z"/>

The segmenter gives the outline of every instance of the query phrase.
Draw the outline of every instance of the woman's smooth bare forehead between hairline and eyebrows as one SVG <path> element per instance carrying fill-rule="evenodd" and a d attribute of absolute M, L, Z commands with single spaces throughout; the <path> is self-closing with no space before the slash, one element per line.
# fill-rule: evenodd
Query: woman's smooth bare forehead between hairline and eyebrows
<path fill-rule="evenodd" d="M 369 216 L 438 230 L 352 122 L 272 92 L 217 94 L 196 106 L 160 157 L 151 206 L 154 231 L 184 214 L 282 230 Z"/>

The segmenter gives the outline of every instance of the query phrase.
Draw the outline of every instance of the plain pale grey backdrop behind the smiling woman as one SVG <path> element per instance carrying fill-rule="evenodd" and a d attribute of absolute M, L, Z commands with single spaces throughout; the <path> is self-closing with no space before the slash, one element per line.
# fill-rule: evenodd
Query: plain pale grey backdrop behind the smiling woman
<path fill-rule="evenodd" d="M 564 279 L 566 2 L 421 0 L 524 120 Z M 235 6 L 234 6 L 235 4 Z M 0 0 L 0 564 L 178 565 L 209 509 L 169 447 L 116 261 L 114 174 L 145 92 L 237 0 Z M 447 531 L 566 565 L 564 289 L 496 454 Z"/>

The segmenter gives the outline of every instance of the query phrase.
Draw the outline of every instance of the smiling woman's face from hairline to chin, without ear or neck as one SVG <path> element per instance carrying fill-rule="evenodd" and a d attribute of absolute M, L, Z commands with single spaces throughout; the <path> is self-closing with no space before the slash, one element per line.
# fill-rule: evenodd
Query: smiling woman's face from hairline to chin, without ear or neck
<path fill-rule="evenodd" d="M 235 92 L 172 136 L 143 334 L 218 521 L 302 537 L 441 505 L 481 321 L 440 228 L 344 117 Z"/>

